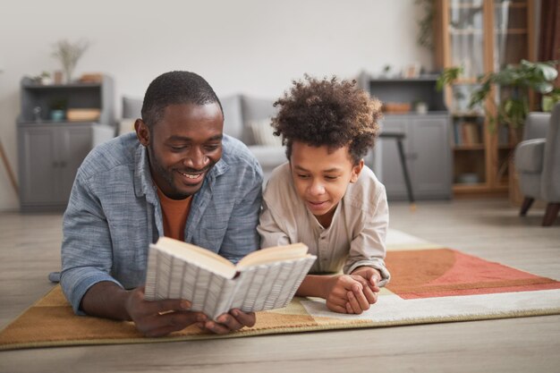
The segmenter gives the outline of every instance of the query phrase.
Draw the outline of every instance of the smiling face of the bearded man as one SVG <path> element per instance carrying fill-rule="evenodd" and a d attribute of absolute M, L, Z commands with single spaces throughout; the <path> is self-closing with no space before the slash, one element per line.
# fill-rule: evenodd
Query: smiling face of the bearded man
<path fill-rule="evenodd" d="M 137 121 L 140 142 L 148 148 L 149 168 L 157 187 L 171 199 L 200 190 L 210 168 L 222 157 L 224 116 L 217 103 L 165 107 L 159 123 Z"/>

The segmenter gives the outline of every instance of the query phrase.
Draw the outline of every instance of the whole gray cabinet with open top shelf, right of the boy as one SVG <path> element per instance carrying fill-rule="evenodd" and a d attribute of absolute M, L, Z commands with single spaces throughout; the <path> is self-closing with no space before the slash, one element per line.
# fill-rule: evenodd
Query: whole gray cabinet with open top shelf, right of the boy
<path fill-rule="evenodd" d="M 443 92 L 436 89 L 437 75 L 373 79 L 368 73 L 362 72 L 358 81 L 361 88 L 369 91 L 371 96 L 378 97 L 384 105 L 385 118 L 381 121 L 381 132 L 400 132 L 405 136 L 404 157 L 414 199 L 450 199 L 450 116 Z M 415 105 L 419 102 L 425 104 L 427 113 L 416 111 Z M 391 106 L 394 108 L 391 109 Z M 403 113 L 396 114 L 395 106 L 407 108 L 402 110 Z M 379 138 L 373 155 L 373 169 L 385 184 L 388 199 L 408 199 L 396 140 Z"/>

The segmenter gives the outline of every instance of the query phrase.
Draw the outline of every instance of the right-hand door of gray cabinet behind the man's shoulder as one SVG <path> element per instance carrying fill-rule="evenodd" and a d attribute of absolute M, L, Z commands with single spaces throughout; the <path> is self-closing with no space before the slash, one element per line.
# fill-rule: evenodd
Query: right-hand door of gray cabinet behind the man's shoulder
<path fill-rule="evenodd" d="M 89 125 L 61 127 L 58 129 L 56 140 L 61 172 L 56 200 L 66 204 L 70 198 L 76 172 L 91 149 L 91 127 Z"/>

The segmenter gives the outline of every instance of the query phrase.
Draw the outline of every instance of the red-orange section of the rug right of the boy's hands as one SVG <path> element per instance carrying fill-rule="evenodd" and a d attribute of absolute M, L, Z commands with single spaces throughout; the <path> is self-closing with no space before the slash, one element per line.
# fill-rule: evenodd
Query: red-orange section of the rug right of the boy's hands
<path fill-rule="evenodd" d="M 451 249 L 389 251 L 387 289 L 403 299 L 560 289 L 560 282 Z"/>

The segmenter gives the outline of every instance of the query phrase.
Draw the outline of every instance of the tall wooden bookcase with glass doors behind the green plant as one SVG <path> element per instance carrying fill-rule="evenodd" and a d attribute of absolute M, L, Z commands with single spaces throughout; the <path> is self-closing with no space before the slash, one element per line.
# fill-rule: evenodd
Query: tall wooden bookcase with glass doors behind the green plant
<path fill-rule="evenodd" d="M 454 196 L 505 194 L 509 189 L 510 156 L 519 137 L 485 114 L 495 114 L 493 98 L 507 92 L 494 90 L 485 106 L 471 110 L 468 104 L 479 76 L 522 59 L 534 60 L 532 12 L 533 0 L 436 2 L 437 67 L 463 68 L 461 79 L 445 91 L 452 118 Z"/>

